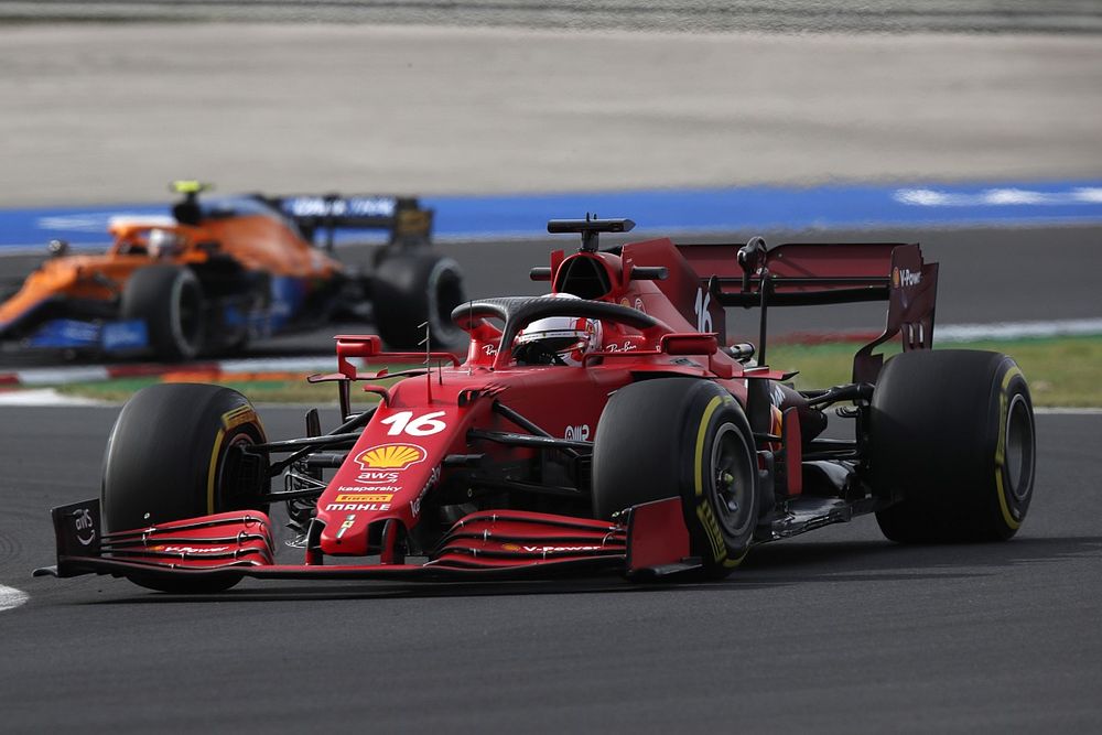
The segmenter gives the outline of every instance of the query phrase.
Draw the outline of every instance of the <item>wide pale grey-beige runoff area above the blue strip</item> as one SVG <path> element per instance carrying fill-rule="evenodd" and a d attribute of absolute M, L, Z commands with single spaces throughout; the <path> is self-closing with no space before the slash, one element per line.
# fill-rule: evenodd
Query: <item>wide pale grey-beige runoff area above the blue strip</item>
<path fill-rule="evenodd" d="M 31 23 L 0 28 L 0 69 L 4 207 L 163 201 L 180 177 L 479 194 L 1102 160 L 1094 34 Z"/>

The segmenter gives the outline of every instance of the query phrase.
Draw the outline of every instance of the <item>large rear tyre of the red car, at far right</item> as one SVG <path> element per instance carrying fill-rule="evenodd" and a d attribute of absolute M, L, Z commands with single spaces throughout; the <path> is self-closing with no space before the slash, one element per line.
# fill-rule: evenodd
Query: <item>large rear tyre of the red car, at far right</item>
<path fill-rule="evenodd" d="M 900 543 L 1000 541 L 1033 498 L 1035 425 L 1013 359 L 972 350 L 912 352 L 888 360 L 873 392 L 869 472 L 876 514 Z"/>

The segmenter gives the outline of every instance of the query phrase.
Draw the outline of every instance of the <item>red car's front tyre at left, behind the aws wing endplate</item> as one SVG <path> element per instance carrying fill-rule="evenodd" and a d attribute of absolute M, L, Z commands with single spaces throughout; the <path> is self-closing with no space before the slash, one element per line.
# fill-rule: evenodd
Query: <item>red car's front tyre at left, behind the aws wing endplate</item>
<path fill-rule="evenodd" d="M 259 510 L 268 458 L 248 447 L 267 441 L 252 404 L 219 386 L 151 386 L 127 401 L 104 456 L 100 502 L 108 532 L 229 510 Z M 217 592 L 223 581 L 163 583 L 163 592 Z"/>

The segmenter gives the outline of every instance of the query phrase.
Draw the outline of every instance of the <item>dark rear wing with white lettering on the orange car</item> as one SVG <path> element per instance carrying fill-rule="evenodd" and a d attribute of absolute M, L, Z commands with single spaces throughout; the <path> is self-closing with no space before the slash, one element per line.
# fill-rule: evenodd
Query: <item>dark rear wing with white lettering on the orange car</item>
<path fill-rule="evenodd" d="M 391 245 L 425 245 L 432 239 L 433 210 L 410 196 L 341 196 L 338 194 L 260 197 L 293 220 L 303 236 L 317 244 L 324 234 L 333 248 L 337 229 L 385 229 Z"/>

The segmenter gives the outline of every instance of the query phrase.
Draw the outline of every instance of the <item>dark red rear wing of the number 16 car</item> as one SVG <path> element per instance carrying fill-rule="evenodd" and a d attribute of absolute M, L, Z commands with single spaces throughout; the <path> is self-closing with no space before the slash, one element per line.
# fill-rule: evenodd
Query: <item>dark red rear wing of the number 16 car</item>
<path fill-rule="evenodd" d="M 875 382 L 883 355 L 873 349 L 901 335 L 903 349 L 929 349 L 938 293 L 938 263 L 922 260 L 918 244 L 819 242 L 767 248 L 760 237 L 733 245 L 679 245 L 724 306 L 761 310 L 758 356 L 766 364 L 770 306 L 818 306 L 887 301 L 884 332 L 857 350 L 854 382 Z M 706 275 L 705 275 L 706 274 Z"/>

